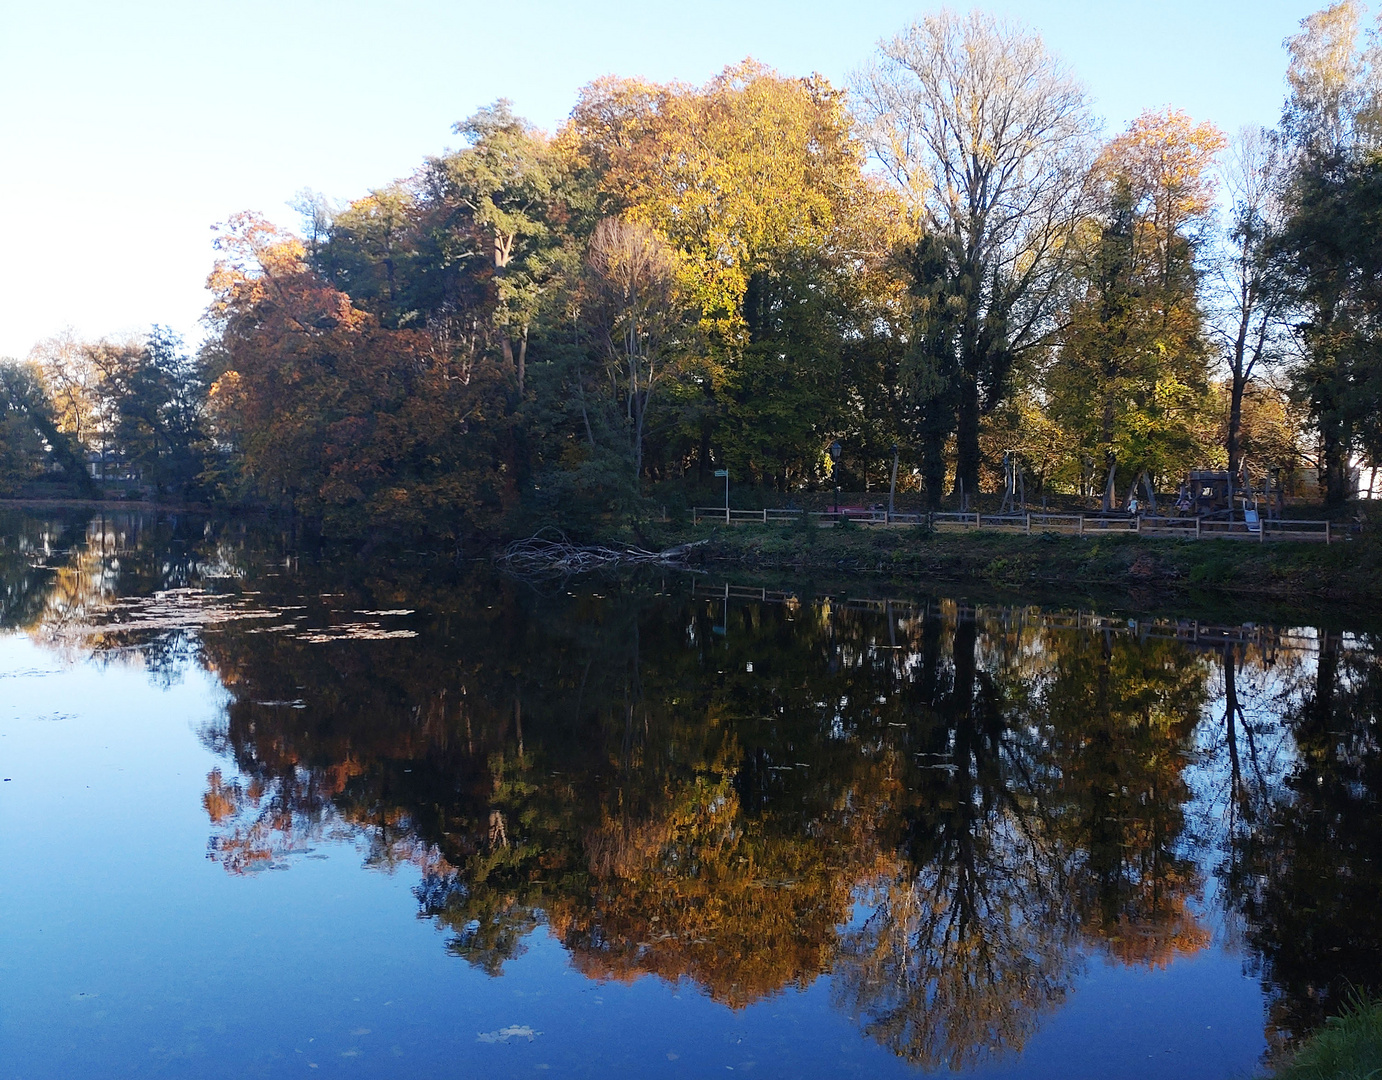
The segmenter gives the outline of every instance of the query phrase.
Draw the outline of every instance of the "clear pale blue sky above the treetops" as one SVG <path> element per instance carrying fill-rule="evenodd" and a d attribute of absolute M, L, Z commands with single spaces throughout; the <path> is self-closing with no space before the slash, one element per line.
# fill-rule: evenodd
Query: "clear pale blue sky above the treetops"
<path fill-rule="evenodd" d="M 1035 28 L 1110 131 L 1176 105 L 1273 123 L 1281 40 L 1321 3 L 985 4 Z M 960 7 L 960 6 L 956 6 Z M 453 144 L 498 97 L 554 127 L 600 75 L 702 82 L 752 55 L 833 82 L 926 6 L 896 0 L 4 0 L 0 355 L 73 326 L 173 325 L 206 304 L 210 227 L 285 224 L 311 187 L 351 198 Z"/>

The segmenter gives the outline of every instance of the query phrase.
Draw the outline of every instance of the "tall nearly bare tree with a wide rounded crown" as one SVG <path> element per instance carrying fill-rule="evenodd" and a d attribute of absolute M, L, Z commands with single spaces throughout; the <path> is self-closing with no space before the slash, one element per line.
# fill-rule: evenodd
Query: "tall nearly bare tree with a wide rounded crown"
<path fill-rule="evenodd" d="M 927 234 L 914 266 L 929 300 L 914 360 L 934 429 L 923 438 L 955 433 L 956 487 L 973 494 L 981 416 L 1061 318 L 1089 102 L 1036 35 L 978 11 L 927 15 L 880 43 L 854 91 L 869 149 Z"/>

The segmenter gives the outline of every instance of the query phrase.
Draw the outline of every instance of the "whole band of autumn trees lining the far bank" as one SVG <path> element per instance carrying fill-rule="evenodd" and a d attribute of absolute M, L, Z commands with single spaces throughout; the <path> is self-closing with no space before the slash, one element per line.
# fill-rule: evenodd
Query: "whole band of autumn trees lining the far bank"
<path fill-rule="evenodd" d="M 406 178 L 305 192 L 301 236 L 224 225 L 195 360 L 156 330 L 8 365 L 0 485 L 457 542 L 598 531 L 720 470 L 886 487 L 894 452 L 930 506 L 1007 456 L 1106 510 L 1193 467 L 1309 473 L 1338 508 L 1382 456 L 1361 18 L 1302 24 L 1280 130 L 1230 153 L 1176 109 L 1101 141 L 1041 39 L 978 12 L 882 43 L 847 93 L 745 61 L 597 80 L 554 133 L 495 102 Z"/>

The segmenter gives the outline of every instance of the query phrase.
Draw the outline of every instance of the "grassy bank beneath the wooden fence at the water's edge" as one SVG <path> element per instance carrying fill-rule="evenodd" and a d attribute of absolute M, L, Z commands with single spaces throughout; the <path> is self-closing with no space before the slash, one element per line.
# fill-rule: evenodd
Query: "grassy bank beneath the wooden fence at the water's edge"
<path fill-rule="evenodd" d="M 945 581 L 1155 590 L 1215 590 L 1263 600 L 1382 603 L 1382 543 L 1023 537 L 991 531 L 658 525 L 650 543 L 705 539 L 706 564 L 791 572 L 884 574 Z"/>

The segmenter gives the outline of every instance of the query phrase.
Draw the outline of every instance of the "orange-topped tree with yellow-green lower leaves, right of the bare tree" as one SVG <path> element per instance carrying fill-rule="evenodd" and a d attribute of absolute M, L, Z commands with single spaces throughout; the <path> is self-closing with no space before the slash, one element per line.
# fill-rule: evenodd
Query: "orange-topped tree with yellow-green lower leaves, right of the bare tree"
<path fill-rule="evenodd" d="M 1053 416 L 1115 478 L 1135 484 L 1195 463 L 1208 393 L 1201 252 L 1224 138 L 1175 109 L 1139 116 L 1096 165 L 1103 212 L 1046 378 Z"/>

